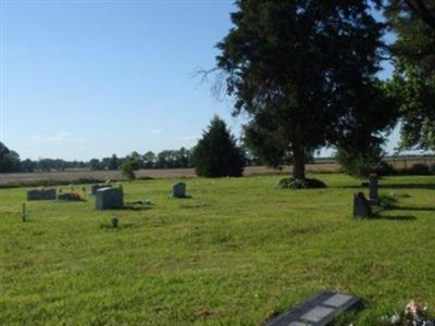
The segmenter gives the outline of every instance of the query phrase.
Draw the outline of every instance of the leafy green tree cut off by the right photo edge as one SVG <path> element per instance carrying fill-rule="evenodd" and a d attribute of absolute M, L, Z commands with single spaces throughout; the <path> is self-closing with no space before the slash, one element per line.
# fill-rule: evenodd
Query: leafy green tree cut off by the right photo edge
<path fill-rule="evenodd" d="M 435 150 L 435 0 L 390 0 L 391 89 L 401 100 L 401 149 Z"/>

